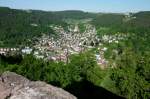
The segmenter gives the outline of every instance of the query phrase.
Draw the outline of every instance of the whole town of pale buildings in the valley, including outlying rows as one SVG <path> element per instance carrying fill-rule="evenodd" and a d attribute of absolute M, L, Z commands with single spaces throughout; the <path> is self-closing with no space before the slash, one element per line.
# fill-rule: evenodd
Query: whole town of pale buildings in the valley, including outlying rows
<path fill-rule="evenodd" d="M 32 24 L 35 26 L 35 24 Z M 22 54 L 33 54 L 38 59 L 64 61 L 68 62 L 68 56 L 78 54 L 89 48 L 94 48 L 97 44 L 103 45 L 107 43 L 119 43 L 119 40 L 125 38 L 125 35 L 104 35 L 101 39 L 97 37 L 96 29 L 90 24 L 86 24 L 84 33 L 80 32 L 78 25 L 69 26 L 68 30 L 64 30 L 61 26 L 50 26 L 57 37 L 43 34 L 42 37 L 36 38 L 34 45 L 30 47 L 19 48 L 0 48 L 0 54 L 6 55 L 8 52 L 20 51 Z M 98 48 L 99 52 L 95 54 L 97 63 L 101 68 L 105 68 L 108 61 L 104 58 L 107 47 Z"/>

